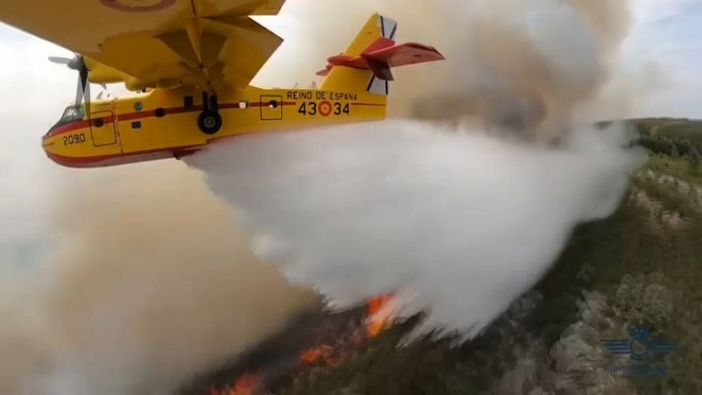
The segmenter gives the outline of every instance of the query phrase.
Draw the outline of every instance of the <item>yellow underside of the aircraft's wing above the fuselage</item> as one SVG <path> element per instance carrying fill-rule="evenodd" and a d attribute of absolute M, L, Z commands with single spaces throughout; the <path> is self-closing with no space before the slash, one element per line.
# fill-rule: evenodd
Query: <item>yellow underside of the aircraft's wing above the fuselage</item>
<path fill-rule="evenodd" d="M 86 58 L 93 82 L 246 86 L 282 39 L 249 18 L 285 0 L 8 0 L 0 21 Z"/>

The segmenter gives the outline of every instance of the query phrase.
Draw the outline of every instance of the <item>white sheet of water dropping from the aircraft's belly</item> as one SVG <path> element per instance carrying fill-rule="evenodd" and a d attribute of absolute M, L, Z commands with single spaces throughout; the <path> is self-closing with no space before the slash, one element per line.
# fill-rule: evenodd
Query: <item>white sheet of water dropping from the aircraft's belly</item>
<path fill-rule="evenodd" d="M 609 215 L 637 167 L 623 130 L 564 148 L 417 121 L 240 138 L 189 162 L 240 208 L 256 252 L 338 306 L 399 292 L 425 329 L 475 335 L 548 269 L 571 229 Z"/>

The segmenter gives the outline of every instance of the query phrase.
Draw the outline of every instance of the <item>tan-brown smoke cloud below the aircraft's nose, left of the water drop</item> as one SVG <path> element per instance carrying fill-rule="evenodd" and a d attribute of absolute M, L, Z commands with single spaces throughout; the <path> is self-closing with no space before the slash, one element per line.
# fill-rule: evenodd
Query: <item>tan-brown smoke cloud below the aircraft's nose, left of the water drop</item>
<path fill-rule="evenodd" d="M 46 262 L 0 301 L 2 394 L 166 394 L 314 305 L 179 163 L 64 175 Z"/>

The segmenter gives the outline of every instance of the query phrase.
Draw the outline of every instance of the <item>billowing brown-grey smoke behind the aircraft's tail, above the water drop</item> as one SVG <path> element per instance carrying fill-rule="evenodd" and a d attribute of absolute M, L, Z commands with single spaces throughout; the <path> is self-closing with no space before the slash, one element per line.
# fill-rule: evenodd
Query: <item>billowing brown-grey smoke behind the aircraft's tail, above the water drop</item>
<path fill-rule="evenodd" d="M 550 141 L 574 120 L 590 121 L 602 111 L 592 101 L 618 65 L 629 6 L 627 0 L 290 1 L 285 13 L 298 21 L 289 37 L 295 42 L 271 63 L 286 60 L 290 74 L 311 75 L 378 11 L 399 21 L 400 41 L 429 43 L 447 58 L 397 69 L 394 115 L 468 119 Z"/>

